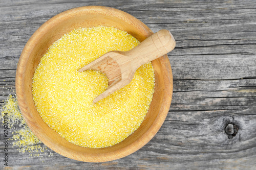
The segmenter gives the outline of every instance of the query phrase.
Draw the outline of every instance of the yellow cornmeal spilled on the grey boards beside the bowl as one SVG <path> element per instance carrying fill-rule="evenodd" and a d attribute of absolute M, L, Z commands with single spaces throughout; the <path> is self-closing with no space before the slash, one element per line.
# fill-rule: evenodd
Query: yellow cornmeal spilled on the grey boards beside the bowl
<path fill-rule="evenodd" d="M 6 119 L 6 118 L 7 119 Z M 6 120 L 6 121 L 4 121 Z M 52 151 L 46 147 L 29 129 L 18 108 L 15 95 L 9 95 L 1 108 L 0 121 L 7 123 L 7 136 L 14 148 L 21 153 L 30 153 L 30 157 L 52 156 Z"/>

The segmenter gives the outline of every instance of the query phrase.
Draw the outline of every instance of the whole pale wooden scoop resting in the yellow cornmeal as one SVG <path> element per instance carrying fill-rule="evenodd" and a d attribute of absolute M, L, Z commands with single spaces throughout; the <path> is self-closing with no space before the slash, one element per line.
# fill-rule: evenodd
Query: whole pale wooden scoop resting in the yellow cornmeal
<path fill-rule="evenodd" d="M 98 95 L 93 103 L 129 84 L 137 68 L 172 51 L 175 44 L 175 39 L 169 31 L 160 30 L 130 51 L 108 52 L 80 68 L 80 72 L 88 69 L 99 70 L 109 79 L 108 89 Z"/>

